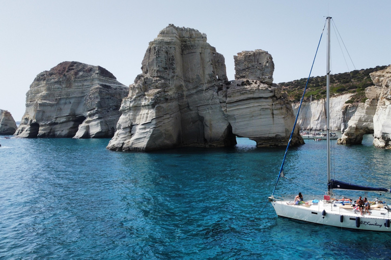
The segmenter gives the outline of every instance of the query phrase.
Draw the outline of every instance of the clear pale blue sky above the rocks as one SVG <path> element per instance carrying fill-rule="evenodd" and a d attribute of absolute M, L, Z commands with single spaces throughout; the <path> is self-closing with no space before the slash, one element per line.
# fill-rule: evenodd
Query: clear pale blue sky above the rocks
<path fill-rule="evenodd" d="M 275 83 L 308 77 L 326 16 L 333 17 L 356 69 L 388 65 L 390 10 L 389 0 L 0 0 L 0 108 L 19 121 L 36 75 L 62 61 L 99 65 L 121 83 L 133 83 L 148 43 L 169 23 L 205 33 L 224 55 L 229 80 L 233 56 L 255 49 L 272 55 Z M 313 76 L 325 74 L 324 44 Z M 340 58 L 338 42 L 332 44 L 332 73 L 354 70 Z"/>

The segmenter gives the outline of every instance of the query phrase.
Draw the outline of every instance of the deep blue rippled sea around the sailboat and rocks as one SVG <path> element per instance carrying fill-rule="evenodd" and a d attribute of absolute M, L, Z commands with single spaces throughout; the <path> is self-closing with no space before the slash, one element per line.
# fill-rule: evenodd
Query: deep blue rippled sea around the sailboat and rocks
<path fill-rule="evenodd" d="M 0 136 L 0 259 L 391 258 L 391 234 L 276 216 L 267 197 L 285 149 L 239 139 L 233 149 L 125 153 L 108 141 Z M 323 194 L 325 147 L 290 149 L 276 193 Z M 391 151 L 371 136 L 332 151 L 342 180 L 391 187 Z M 345 194 L 358 195 L 378 196 Z"/>

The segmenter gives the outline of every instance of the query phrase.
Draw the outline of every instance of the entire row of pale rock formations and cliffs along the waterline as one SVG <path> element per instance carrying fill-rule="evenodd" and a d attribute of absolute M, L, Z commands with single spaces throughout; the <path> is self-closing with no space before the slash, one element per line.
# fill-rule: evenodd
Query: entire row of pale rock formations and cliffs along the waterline
<path fill-rule="evenodd" d="M 129 87 L 100 66 L 61 62 L 31 84 L 19 127 L 2 110 L 0 134 L 112 138 L 107 149 L 116 151 L 234 146 L 236 137 L 286 146 L 298 104 L 273 83 L 272 56 L 242 51 L 234 61 L 235 80 L 228 81 L 225 58 L 205 34 L 170 24 L 149 43 L 142 74 Z M 330 127 L 344 133 L 339 144 L 374 133 L 376 147 L 391 148 L 391 66 L 371 79 L 365 103 L 346 104 L 352 94 L 330 99 Z M 300 128 L 325 129 L 324 103 L 303 103 L 291 145 L 304 143 Z"/>

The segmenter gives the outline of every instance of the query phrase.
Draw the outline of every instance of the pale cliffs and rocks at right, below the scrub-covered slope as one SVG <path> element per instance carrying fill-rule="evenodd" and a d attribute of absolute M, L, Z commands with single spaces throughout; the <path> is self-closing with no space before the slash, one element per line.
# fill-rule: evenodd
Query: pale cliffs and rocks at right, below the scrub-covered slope
<path fill-rule="evenodd" d="M 373 144 L 378 148 L 391 148 L 391 66 L 370 74 L 374 83 L 365 89 L 365 103 L 346 103 L 352 94 L 343 94 L 330 98 L 331 131 L 341 131 L 338 144 L 360 144 L 362 136 L 373 134 Z M 302 129 L 325 130 L 324 99 L 304 102 L 298 118 Z M 292 104 L 297 111 L 298 103 Z"/>

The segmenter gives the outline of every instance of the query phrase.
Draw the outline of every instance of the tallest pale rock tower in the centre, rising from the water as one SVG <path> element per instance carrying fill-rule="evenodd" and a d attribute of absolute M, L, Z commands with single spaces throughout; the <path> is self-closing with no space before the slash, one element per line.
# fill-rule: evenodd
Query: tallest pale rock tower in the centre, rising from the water
<path fill-rule="evenodd" d="M 235 142 L 217 96 L 227 82 L 225 60 L 206 41 L 198 30 L 169 25 L 150 42 L 108 149 Z"/>

